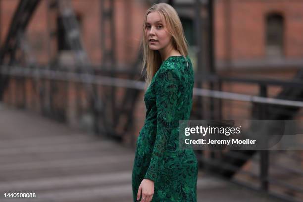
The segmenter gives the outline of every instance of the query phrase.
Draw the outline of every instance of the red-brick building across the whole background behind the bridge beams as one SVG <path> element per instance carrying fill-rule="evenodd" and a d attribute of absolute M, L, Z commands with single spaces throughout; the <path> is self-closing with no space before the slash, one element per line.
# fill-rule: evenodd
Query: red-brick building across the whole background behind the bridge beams
<path fill-rule="evenodd" d="M 3 44 L 12 16 L 19 0 L 0 0 L 0 39 Z M 39 64 L 60 62 L 73 64 L 73 56 L 64 42 L 62 22 L 57 12 L 42 0 L 32 17 L 26 32 L 31 47 L 30 54 Z M 84 48 L 93 64 L 102 64 L 104 50 L 102 36 L 114 37 L 117 68 L 128 68 L 138 55 L 143 16 L 152 0 L 114 0 L 113 27 L 111 35 L 101 15 L 101 0 L 71 0 L 79 21 Z M 177 6 L 178 3 L 194 3 L 194 0 L 174 0 L 186 37 L 190 44 L 190 56 L 196 62 L 197 50 L 194 31 L 194 9 Z M 206 1 L 201 0 L 204 4 Z M 106 6 L 106 4 L 105 4 Z M 271 77 L 291 77 L 294 70 L 303 66 L 303 1 L 302 0 L 215 0 L 215 57 L 216 68 L 222 73 L 261 74 Z M 203 40 L 207 38 L 207 17 L 202 9 Z M 111 46 L 109 38 L 105 46 Z M 206 47 L 206 46 L 205 46 Z M 204 48 L 207 52 L 207 48 Z M 12 83 L 11 91 L 16 92 Z M 30 84 L 27 91 L 31 92 Z M 255 94 L 255 88 L 227 86 L 225 90 Z M 224 88 L 223 88 L 224 90 Z M 274 94 L 278 89 L 272 91 Z M 18 93 L 16 93 L 18 95 Z M 143 95 L 142 95 L 143 96 Z M 35 102 L 32 96 L 27 102 Z M 62 96 L 61 96 L 62 97 Z M 60 102 L 60 98 L 57 98 Z M 74 98 L 71 96 L 70 98 Z M 143 97 L 142 97 L 143 98 Z M 144 119 L 143 99 L 136 109 L 136 128 Z M 16 103 L 16 96 L 12 99 Z M 34 104 L 35 105 L 35 104 Z M 41 107 L 28 108 L 41 110 Z M 64 108 L 64 107 L 63 107 Z"/>

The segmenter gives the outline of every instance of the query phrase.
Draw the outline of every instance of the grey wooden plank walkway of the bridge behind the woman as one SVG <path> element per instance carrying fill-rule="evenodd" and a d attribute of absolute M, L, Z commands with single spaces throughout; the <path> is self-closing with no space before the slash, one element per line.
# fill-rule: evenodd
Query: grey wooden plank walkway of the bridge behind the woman
<path fill-rule="evenodd" d="M 133 159 L 134 149 L 0 105 L 0 202 L 132 202 Z M 198 202 L 278 202 L 202 172 L 197 190 Z"/>

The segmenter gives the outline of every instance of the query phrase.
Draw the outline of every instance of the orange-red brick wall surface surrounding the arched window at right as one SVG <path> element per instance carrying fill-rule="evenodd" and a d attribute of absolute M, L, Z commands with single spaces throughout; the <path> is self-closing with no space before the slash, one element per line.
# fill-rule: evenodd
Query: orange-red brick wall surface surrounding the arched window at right
<path fill-rule="evenodd" d="M 218 59 L 226 57 L 232 60 L 264 58 L 265 16 L 270 12 L 279 12 L 284 16 L 285 56 L 302 58 L 303 1 L 217 0 L 216 2 L 215 26 Z M 226 25 L 230 26 L 226 27 Z M 228 48 L 228 44 L 230 48 Z"/>

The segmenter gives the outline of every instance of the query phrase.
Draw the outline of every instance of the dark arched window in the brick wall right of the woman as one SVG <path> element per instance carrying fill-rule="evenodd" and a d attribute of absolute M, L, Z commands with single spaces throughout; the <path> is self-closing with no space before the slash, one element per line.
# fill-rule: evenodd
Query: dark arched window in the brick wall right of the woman
<path fill-rule="evenodd" d="M 266 55 L 283 56 L 284 18 L 281 14 L 271 13 L 266 16 Z"/>

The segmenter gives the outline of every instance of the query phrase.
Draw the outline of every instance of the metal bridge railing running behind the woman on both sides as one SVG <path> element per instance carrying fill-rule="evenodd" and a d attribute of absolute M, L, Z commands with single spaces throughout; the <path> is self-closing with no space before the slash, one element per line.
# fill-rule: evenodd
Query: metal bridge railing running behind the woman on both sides
<path fill-rule="evenodd" d="M 25 77 L 25 78 L 33 78 L 38 80 L 53 80 L 53 81 L 64 81 L 64 82 L 77 82 L 82 84 L 94 84 L 99 86 L 115 86 L 115 87 L 123 87 L 123 88 L 131 88 L 131 89 L 137 89 L 137 90 L 143 90 L 144 89 L 144 82 L 139 80 L 130 80 L 130 79 L 121 79 L 121 78 L 113 78 L 109 76 L 101 76 L 101 75 L 91 75 L 91 74 L 83 74 L 83 73 L 75 73 L 75 72 L 69 72 L 67 71 L 55 71 L 55 70 L 49 70 L 41 68 L 21 68 L 21 67 L 8 67 L 8 66 L 2 66 L 1 68 L 1 74 L 7 75 L 7 76 L 14 76 L 14 77 Z M 298 89 L 299 87 L 303 87 L 302 82 L 300 80 L 296 81 L 278 81 L 278 80 L 265 80 L 265 79 L 243 79 L 243 78 L 227 78 L 227 77 L 209 77 L 208 81 L 212 80 L 215 81 L 219 85 L 223 85 L 223 82 L 234 82 L 234 83 L 251 83 L 259 86 L 259 96 L 252 96 L 252 95 L 244 95 L 239 93 L 232 93 L 232 92 L 222 92 L 222 91 L 215 91 L 215 90 L 209 90 L 209 89 L 200 89 L 200 88 L 194 88 L 193 95 L 197 97 L 208 97 L 208 98 L 215 98 L 223 100 L 232 100 L 232 101 L 245 101 L 252 104 L 257 104 L 257 107 L 259 108 L 258 118 L 259 119 L 266 119 L 268 117 L 266 114 L 266 106 L 280 106 L 280 107 L 295 107 L 295 108 L 302 108 L 303 107 L 303 101 L 295 101 L 295 100 L 286 100 L 281 98 L 267 98 L 267 88 L 270 85 L 278 85 L 278 86 L 286 86 L 288 88 L 294 88 Z M 205 81 L 205 80 L 204 80 Z M 222 87 L 222 86 L 221 86 Z M 298 99 L 298 98 L 296 98 Z M 222 104 L 222 102 L 220 102 Z M 222 109 L 222 106 L 220 107 Z M 297 110 L 297 111 L 298 111 Z M 222 115 L 222 114 L 221 114 Z M 294 113 L 290 114 L 294 115 Z M 289 115 L 289 116 L 290 116 Z M 205 155 L 200 155 L 199 161 L 202 162 L 205 165 L 205 168 L 207 170 L 208 168 L 212 168 L 213 166 L 220 167 L 221 169 L 225 170 L 225 177 L 226 173 L 233 176 L 233 174 L 246 174 L 250 177 L 258 179 L 260 186 L 252 186 L 248 185 L 248 183 L 241 182 L 239 180 L 235 180 L 232 178 L 229 178 L 230 181 L 241 184 L 244 186 L 249 186 L 252 189 L 256 189 L 259 191 L 267 192 L 268 194 L 282 198 L 287 201 L 295 201 L 297 200 L 296 197 L 290 197 L 287 195 L 282 195 L 281 193 L 274 193 L 270 191 L 269 185 L 279 185 L 283 187 L 284 189 L 293 190 L 296 193 L 303 193 L 301 188 L 298 188 L 294 185 L 288 184 L 286 182 L 280 181 L 278 179 L 270 177 L 268 170 L 270 167 L 274 167 L 275 169 L 281 169 L 284 172 L 289 173 L 295 173 L 296 175 L 302 176 L 302 172 L 299 170 L 295 170 L 293 168 L 285 167 L 283 165 L 277 165 L 270 164 L 269 163 L 269 155 L 271 151 L 266 150 L 260 150 L 259 152 L 259 158 L 255 158 L 257 154 L 257 151 L 246 151 L 246 152 L 239 152 L 239 151 L 229 151 L 228 153 L 225 153 L 225 156 L 229 159 L 234 160 L 240 160 L 242 164 L 248 161 L 252 161 L 254 163 L 257 163 L 259 166 L 259 174 L 245 171 L 241 169 L 241 166 L 234 165 L 229 162 L 222 161 L 221 158 L 214 157 L 215 152 L 211 152 L 211 158 L 206 158 Z M 223 155 L 222 151 L 218 152 L 220 155 Z M 276 155 L 285 155 L 285 152 L 273 152 Z M 302 157 L 296 156 L 294 159 L 297 162 L 302 162 Z M 228 172 L 227 172 L 228 171 Z M 232 173 L 232 174 L 231 174 Z M 224 173 L 223 173 L 224 174 Z M 270 184 L 269 184 L 270 183 Z"/>

